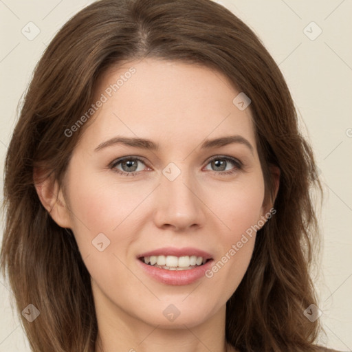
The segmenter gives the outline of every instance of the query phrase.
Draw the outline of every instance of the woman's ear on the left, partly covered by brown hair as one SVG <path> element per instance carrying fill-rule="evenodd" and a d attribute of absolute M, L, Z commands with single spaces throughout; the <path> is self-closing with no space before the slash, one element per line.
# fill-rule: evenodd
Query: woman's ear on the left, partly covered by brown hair
<path fill-rule="evenodd" d="M 61 228 L 71 228 L 69 209 L 54 175 L 45 176 L 43 170 L 34 168 L 33 180 L 39 199 L 52 219 Z"/>

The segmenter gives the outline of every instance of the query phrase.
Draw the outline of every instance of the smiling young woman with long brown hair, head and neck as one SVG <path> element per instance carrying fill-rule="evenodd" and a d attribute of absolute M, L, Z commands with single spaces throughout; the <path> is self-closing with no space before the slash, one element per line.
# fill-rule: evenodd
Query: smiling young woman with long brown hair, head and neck
<path fill-rule="evenodd" d="M 32 351 L 326 351 L 314 156 L 254 33 L 208 0 L 102 0 L 36 67 L 3 273 Z"/>

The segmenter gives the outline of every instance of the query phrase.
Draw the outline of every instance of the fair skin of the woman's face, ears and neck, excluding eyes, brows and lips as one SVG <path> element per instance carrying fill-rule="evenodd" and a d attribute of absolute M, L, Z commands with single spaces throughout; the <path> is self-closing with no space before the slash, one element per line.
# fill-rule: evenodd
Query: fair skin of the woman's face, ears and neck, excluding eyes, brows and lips
<path fill-rule="evenodd" d="M 74 232 L 91 274 L 102 351 L 231 351 L 225 303 L 248 268 L 255 234 L 212 278 L 190 285 L 155 281 L 136 257 L 195 247 L 217 262 L 267 214 L 250 109 L 232 103 L 239 91 L 219 72 L 151 58 L 110 69 L 97 98 L 129 67 L 135 74 L 84 126 L 64 188 L 47 179 L 37 186 L 39 196 L 54 221 Z M 122 144 L 95 151 L 118 135 L 148 138 L 159 151 Z M 243 143 L 200 149 L 204 139 L 228 135 L 241 135 L 253 150 Z M 125 156 L 144 160 L 135 161 L 137 175 L 116 172 L 131 173 L 126 164 L 110 167 Z M 233 157 L 243 167 L 223 162 L 234 173 L 221 175 L 213 156 Z M 181 172 L 173 181 L 162 173 L 170 162 Z M 110 241 L 102 252 L 92 245 L 99 233 Z M 180 313 L 173 322 L 163 314 L 170 304 Z"/>

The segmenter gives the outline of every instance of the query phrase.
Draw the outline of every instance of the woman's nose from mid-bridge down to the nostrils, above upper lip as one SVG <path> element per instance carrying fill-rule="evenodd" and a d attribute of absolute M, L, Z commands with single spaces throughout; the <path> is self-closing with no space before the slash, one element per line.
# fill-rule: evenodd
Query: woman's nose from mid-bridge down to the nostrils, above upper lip
<path fill-rule="evenodd" d="M 155 225 L 176 232 L 203 227 L 206 206 L 201 198 L 201 187 L 186 173 L 173 181 L 162 175 L 155 194 Z"/>

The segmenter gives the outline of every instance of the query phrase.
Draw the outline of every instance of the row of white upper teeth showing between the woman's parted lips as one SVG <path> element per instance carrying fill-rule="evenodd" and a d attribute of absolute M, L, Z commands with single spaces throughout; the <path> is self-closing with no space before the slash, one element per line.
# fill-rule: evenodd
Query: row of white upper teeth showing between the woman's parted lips
<path fill-rule="evenodd" d="M 202 256 L 144 256 L 144 263 L 168 270 L 186 270 L 206 261 Z"/>

